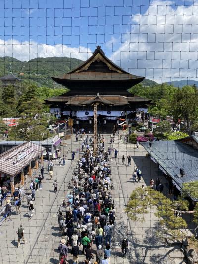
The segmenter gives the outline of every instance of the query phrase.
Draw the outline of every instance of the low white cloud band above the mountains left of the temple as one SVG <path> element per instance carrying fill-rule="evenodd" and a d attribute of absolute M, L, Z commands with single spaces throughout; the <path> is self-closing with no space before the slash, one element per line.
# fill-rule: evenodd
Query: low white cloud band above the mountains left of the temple
<path fill-rule="evenodd" d="M 19 42 L 15 39 L 0 39 L 0 56 L 11 56 L 21 61 L 37 57 L 71 57 L 86 60 L 92 51 L 84 46 L 70 47 L 63 44 L 38 44 L 35 41 Z"/>

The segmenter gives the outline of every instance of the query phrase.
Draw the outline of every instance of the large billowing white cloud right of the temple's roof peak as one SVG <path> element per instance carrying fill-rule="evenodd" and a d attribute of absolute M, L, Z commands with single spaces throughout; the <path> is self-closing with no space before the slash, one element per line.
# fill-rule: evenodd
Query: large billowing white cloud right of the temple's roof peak
<path fill-rule="evenodd" d="M 131 16 L 131 24 L 130 34 L 112 53 L 115 63 L 157 82 L 196 79 L 198 0 L 189 6 L 154 0 L 144 14 Z"/>

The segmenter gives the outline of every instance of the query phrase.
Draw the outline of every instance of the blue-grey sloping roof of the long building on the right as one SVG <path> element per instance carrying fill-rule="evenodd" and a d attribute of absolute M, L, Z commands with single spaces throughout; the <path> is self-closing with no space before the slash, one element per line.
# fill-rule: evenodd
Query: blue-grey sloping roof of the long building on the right
<path fill-rule="evenodd" d="M 151 143 L 151 147 L 149 142 L 142 145 L 181 189 L 183 183 L 198 180 L 197 149 L 181 140 L 155 141 Z M 184 169 L 186 176 L 181 177 L 180 168 Z M 198 198 L 191 199 L 198 201 Z"/>

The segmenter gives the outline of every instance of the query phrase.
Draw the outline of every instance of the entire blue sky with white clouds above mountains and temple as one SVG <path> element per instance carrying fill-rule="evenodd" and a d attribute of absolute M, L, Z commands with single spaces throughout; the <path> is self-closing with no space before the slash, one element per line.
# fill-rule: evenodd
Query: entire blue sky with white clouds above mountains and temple
<path fill-rule="evenodd" d="M 198 0 L 0 0 L 0 56 L 87 59 L 101 45 L 131 73 L 196 79 Z"/>

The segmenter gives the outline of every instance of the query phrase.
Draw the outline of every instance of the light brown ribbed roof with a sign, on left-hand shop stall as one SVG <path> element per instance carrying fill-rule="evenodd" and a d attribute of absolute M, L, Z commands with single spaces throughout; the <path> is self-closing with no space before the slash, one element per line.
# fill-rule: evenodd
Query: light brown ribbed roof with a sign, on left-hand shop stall
<path fill-rule="evenodd" d="M 25 155 L 25 152 L 28 151 L 30 153 L 21 158 L 22 155 Z M 13 147 L 0 155 L 0 172 L 10 176 L 15 176 L 21 171 L 21 169 L 26 167 L 33 158 L 36 158 L 44 151 L 44 147 L 33 144 L 29 141 Z"/>

